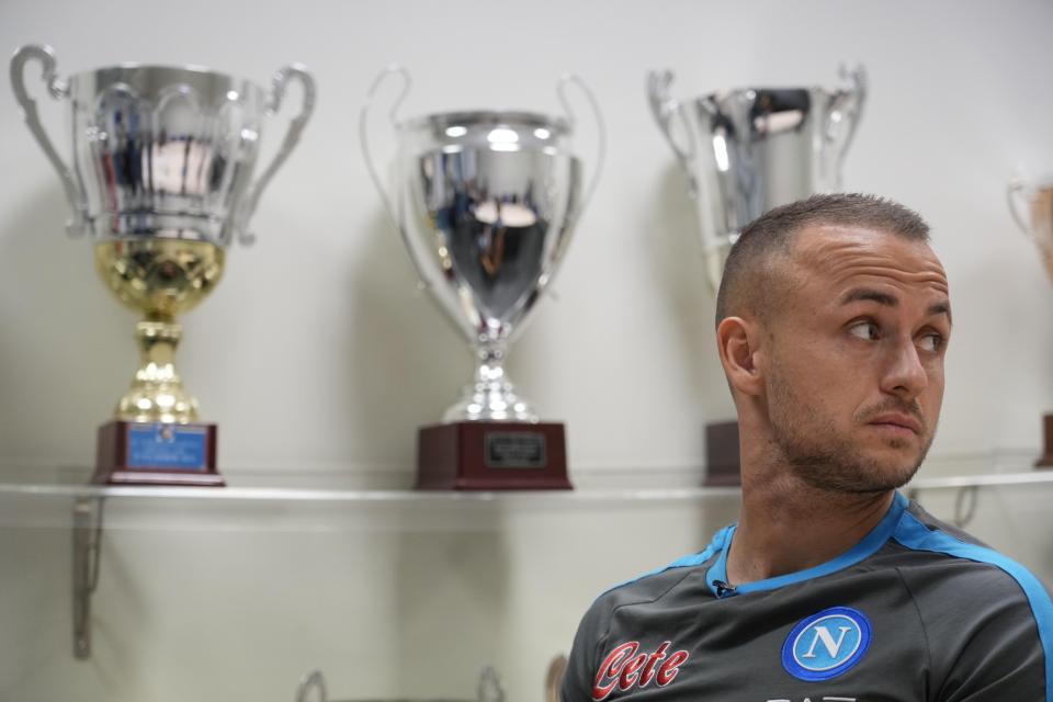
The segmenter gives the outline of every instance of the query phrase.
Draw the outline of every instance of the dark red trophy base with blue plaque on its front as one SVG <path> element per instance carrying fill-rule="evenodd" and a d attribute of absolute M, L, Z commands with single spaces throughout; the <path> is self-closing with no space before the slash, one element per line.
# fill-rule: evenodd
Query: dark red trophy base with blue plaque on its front
<path fill-rule="evenodd" d="M 133 442 L 148 443 L 150 434 L 157 434 L 158 450 L 144 450 L 141 443 L 136 450 Z M 172 449 L 177 441 L 191 450 L 177 454 Z M 216 426 L 106 422 L 99 427 L 92 483 L 222 487 L 226 483 L 216 471 Z"/>

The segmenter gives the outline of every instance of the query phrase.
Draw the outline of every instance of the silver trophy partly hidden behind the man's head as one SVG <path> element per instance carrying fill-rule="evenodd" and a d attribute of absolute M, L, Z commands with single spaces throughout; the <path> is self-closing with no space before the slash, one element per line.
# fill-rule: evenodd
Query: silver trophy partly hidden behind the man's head
<path fill-rule="evenodd" d="M 688 177 L 711 290 L 727 253 L 761 214 L 816 192 L 837 191 L 841 163 L 867 100 L 863 68 L 841 68 L 848 86 L 746 88 L 680 101 L 672 72 L 652 71 L 647 97 L 663 135 Z M 706 427 L 706 484 L 738 485 L 738 424 Z"/>

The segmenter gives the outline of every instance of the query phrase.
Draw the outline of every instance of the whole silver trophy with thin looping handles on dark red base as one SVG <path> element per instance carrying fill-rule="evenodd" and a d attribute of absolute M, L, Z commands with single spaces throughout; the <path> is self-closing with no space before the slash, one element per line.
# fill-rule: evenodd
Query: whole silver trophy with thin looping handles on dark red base
<path fill-rule="evenodd" d="M 377 176 L 366 137 L 378 87 L 400 77 L 389 114 L 398 152 L 390 191 Z M 582 188 L 571 149 L 575 121 L 566 88 L 577 86 L 596 112 L 600 149 Z M 420 489 L 568 489 L 564 426 L 537 415 L 505 373 L 509 344 L 521 331 L 566 252 L 597 183 L 603 122 L 579 78 L 558 83 L 568 117 L 530 112 L 450 112 L 396 116 L 409 73 L 383 71 L 362 107 L 362 152 L 395 220 L 422 287 L 472 343 L 476 371 L 443 422 L 418 434 Z"/>

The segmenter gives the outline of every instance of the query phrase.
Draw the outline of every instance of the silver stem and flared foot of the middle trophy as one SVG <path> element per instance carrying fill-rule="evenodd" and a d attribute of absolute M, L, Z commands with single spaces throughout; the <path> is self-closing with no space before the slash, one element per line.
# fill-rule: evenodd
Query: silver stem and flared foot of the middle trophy
<path fill-rule="evenodd" d="M 503 343 L 484 342 L 475 348 L 475 382 L 464 388 L 443 421 L 537 421 L 533 408 L 516 394 L 505 373 L 507 353 Z"/>

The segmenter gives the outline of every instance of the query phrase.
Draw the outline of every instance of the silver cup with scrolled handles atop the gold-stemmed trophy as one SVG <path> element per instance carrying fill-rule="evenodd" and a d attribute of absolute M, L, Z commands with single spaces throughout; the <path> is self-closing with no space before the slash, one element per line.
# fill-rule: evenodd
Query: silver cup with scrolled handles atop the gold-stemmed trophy
<path fill-rule="evenodd" d="M 25 66 L 33 61 L 48 93 L 69 105 L 71 167 L 25 88 Z M 303 86 L 303 107 L 253 183 L 264 117 L 279 110 L 293 80 Z M 296 64 L 274 73 L 270 89 L 195 66 L 120 64 L 64 80 L 54 50 L 38 45 L 15 52 L 11 83 L 66 190 L 69 233 L 100 239 L 163 237 L 225 247 L 237 235 L 250 242 L 249 218 L 315 103 L 314 79 Z"/>

